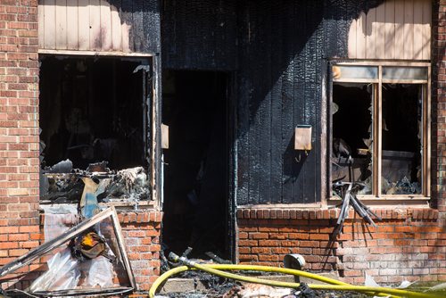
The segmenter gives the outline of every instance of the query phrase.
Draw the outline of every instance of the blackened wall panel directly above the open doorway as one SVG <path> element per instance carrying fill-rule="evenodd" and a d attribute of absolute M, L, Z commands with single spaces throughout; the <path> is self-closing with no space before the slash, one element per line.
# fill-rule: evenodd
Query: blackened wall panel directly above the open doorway
<path fill-rule="evenodd" d="M 163 67 L 235 70 L 236 0 L 164 0 Z"/>

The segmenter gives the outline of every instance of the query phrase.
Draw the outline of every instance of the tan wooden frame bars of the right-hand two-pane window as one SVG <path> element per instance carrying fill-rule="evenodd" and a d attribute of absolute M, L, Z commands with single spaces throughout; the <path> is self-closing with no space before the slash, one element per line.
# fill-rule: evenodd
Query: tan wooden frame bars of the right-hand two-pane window
<path fill-rule="evenodd" d="M 373 167 L 373 195 L 360 195 L 363 200 L 395 200 L 395 201 L 407 201 L 419 200 L 426 201 L 431 195 L 431 63 L 429 62 L 369 62 L 369 61 L 331 61 L 329 62 L 329 90 L 327 92 L 329 101 L 327 103 L 327 122 L 328 122 L 328 144 L 327 152 L 328 156 L 332 155 L 332 142 L 333 142 L 333 115 L 331 112 L 331 103 L 333 102 L 333 83 L 335 82 L 347 82 L 347 83 L 372 83 L 373 89 L 373 113 L 372 113 L 372 133 L 373 133 L 373 150 L 372 155 L 372 167 Z M 378 79 L 335 79 L 333 76 L 332 66 L 376 66 L 378 67 Z M 423 67 L 427 70 L 427 79 L 383 79 L 383 67 Z M 423 96 L 423 111 L 422 111 L 422 194 L 421 195 L 382 195 L 381 194 L 381 170 L 382 170 L 382 84 L 419 84 L 422 86 Z M 327 190 L 331 190 L 331 162 L 327 162 L 327 175 L 326 181 Z M 331 193 L 328 192 L 326 197 L 331 198 Z"/>

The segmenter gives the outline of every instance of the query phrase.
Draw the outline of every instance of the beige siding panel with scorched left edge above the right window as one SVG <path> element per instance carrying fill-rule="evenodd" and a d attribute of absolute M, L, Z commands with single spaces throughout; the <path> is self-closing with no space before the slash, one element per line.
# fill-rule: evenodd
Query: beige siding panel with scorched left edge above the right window
<path fill-rule="evenodd" d="M 432 1 L 389 0 L 351 22 L 349 58 L 429 60 Z"/>

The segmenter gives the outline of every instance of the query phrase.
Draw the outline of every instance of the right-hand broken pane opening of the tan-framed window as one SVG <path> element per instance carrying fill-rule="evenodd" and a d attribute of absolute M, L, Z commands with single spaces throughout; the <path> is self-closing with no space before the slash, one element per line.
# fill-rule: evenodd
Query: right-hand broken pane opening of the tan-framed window
<path fill-rule="evenodd" d="M 422 103 L 421 85 L 383 84 L 383 195 L 422 193 Z"/>

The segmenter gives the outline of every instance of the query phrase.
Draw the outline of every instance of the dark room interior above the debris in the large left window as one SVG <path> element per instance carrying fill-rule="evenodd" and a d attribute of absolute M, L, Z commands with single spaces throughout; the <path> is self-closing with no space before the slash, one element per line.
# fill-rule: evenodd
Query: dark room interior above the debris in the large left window
<path fill-rule="evenodd" d="M 141 61 L 55 58 L 40 66 L 43 166 L 70 159 L 74 168 L 108 161 L 113 170 L 145 166 Z"/>

